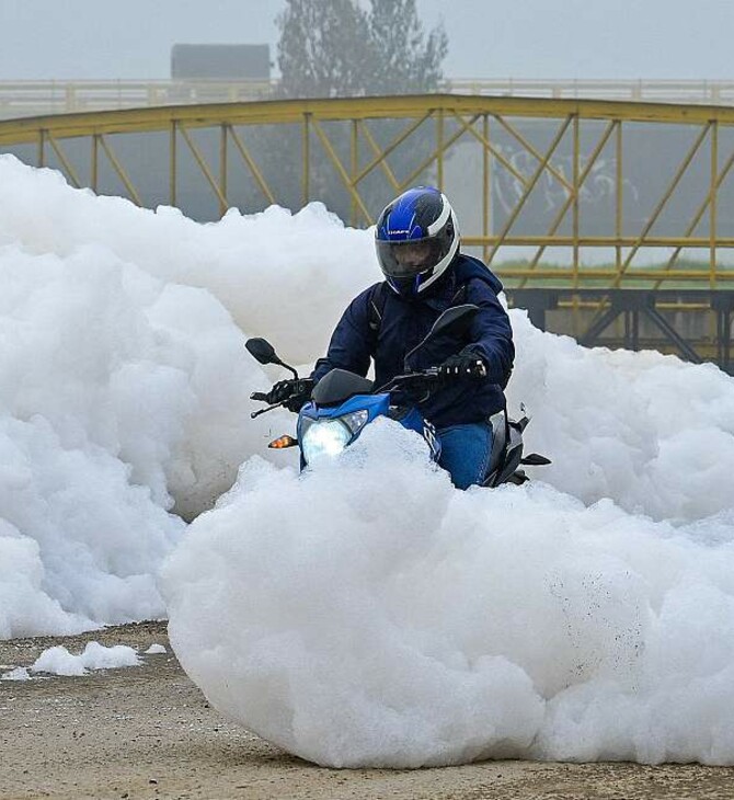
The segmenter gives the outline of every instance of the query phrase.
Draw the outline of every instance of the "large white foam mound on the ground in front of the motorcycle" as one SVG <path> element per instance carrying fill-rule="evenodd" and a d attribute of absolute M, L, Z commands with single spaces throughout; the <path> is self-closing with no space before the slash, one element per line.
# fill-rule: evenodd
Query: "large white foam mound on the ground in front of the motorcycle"
<path fill-rule="evenodd" d="M 323 765 L 732 763 L 733 541 L 731 513 L 456 492 L 385 422 L 310 475 L 251 460 L 169 562 L 169 632 L 217 708 Z"/>

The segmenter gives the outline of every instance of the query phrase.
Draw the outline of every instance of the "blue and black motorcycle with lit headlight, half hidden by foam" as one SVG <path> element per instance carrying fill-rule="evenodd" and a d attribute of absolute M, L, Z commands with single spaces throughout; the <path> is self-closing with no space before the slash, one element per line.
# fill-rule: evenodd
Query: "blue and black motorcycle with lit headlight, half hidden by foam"
<path fill-rule="evenodd" d="M 446 333 L 460 334 L 467 330 L 479 310 L 477 306 L 466 304 L 444 311 L 426 338 L 405 356 L 405 359 L 434 338 Z M 290 399 L 301 396 L 305 388 L 310 385 L 310 381 L 299 378 L 294 367 L 280 361 L 273 345 L 265 339 L 249 339 L 245 347 L 260 364 L 283 366 L 293 373 L 295 378 L 291 398 L 252 412 L 250 414 L 252 419 L 286 405 Z M 486 369 L 478 359 L 474 370 L 467 377 L 483 378 L 485 375 Z M 383 386 L 375 387 L 371 380 L 362 375 L 345 369 L 332 369 L 313 387 L 311 400 L 298 412 L 296 438 L 284 435 L 271 442 L 268 447 L 275 449 L 299 447 L 301 469 L 306 469 L 316 458 L 324 455 L 337 456 L 354 444 L 369 423 L 378 416 L 387 416 L 420 434 L 429 449 L 431 458 L 438 461 L 440 441 L 434 426 L 418 411 L 417 404 L 436 391 L 445 380 L 446 376 L 441 375 L 438 367 L 431 367 L 398 375 Z M 266 392 L 253 392 L 250 398 L 269 402 Z M 523 432 L 530 419 L 525 413 L 525 407 L 520 408 L 523 416 L 519 420 L 509 419 L 506 409 L 490 418 L 493 433 L 492 454 L 488 477 L 482 483 L 484 487 L 497 487 L 501 483 L 519 485 L 528 480 L 521 467 L 550 464 L 548 458 L 537 453 L 523 455 Z"/>

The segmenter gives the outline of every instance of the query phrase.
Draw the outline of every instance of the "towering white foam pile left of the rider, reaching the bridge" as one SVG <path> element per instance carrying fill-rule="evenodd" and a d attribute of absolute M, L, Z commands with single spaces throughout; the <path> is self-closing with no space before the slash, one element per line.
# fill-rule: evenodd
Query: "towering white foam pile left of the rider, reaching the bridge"
<path fill-rule="evenodd" d="M 305 359 L 326 325 L 295 335 L 293 304 L 321 278 L 321 321 L 368 244 L 321 206 L 202 226 L 0 157 L 0 638 L 164 616 L 177 515 L 287 424 L 248 419 L 269 381 L 233 318 Z"/>

